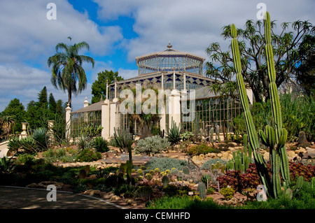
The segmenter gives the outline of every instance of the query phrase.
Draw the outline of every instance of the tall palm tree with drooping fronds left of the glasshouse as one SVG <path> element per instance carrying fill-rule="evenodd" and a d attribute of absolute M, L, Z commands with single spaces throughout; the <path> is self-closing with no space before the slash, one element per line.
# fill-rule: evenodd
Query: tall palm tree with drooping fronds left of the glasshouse
<path fill-rule="evenodd" d="M 85 55 L 78 55 L 79 50 L 83 48 L 90 49 L 90 46 L 85 41 L 71 45 L 72 38 L 70 36 L 68 38 L 70 45 L 65 43 L 56 45 L 56 54 L 48 58 L 48 67 L 52 66 L 52 85 L 57 89 L 57 86 L 59 86 L 64 92 L 67 90 L 68 103 L 71 107 L 72 93 L 78 95 L 87 87 L 87 78 L 82 64 L 83 62 L 92 63 L 94 68 L 94 59 Z"/>

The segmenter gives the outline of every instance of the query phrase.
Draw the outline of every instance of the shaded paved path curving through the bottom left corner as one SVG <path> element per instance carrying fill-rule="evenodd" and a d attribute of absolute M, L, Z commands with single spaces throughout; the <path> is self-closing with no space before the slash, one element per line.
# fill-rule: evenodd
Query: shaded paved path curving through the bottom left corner
<path fill-rule="evenodd" d="M 26 187 L 1 187 L 0 209 L 121 209 L 116 204 L 83 194 L 57 191 L 57 201 L 47 201 L 50 191 Z"/>

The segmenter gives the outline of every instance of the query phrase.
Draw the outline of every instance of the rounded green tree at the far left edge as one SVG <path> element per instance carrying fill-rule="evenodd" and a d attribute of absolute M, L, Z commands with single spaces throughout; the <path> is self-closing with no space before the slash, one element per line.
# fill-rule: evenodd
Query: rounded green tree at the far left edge
<path fill-rule="evenodd" d="M 22 131 L 21 122 L 25 122 L 26 111 L 19 99 L 13 99 L 1 113 L 1 117 L 9 116 L 15 120 L 13 132 Z"/>

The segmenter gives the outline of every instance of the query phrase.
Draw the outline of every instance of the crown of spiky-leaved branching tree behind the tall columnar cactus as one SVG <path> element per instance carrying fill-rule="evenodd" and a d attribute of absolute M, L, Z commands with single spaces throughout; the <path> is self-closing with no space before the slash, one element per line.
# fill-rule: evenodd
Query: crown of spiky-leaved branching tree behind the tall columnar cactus
<path fill-rule="evenodd" d="M 307 34 L 313 34 L 315 29 L 308 21 L 297 20 L 295 22 L 281 23 L 280 34 L 274 33 L 276 22 L 271 22 L 272 44 L 274 51 L 274 63 L 276 69 L 276 86 L 284 81 L 290 82 L 296 65 L 302 60 L 299 53 L 300 42 Z M 224 40 L 231 38 L 231 26 L 223 27 L 221 33 Z M 269 82 L 267 75 L 267 63 L 265 60 L 265 36 L 263 24 L 260 20 L 253 22 L 247 20 L 244 29 L 237 29 L 239 50 L 241 54 L 241 73 L 246 85 L 251 87 L 255 100 L 260 102 L 269 99 Z M 304 48 L 304 46 L 302 46 Z M 228 96 L 236 95 L 235 68 L 232 64 L 230 49 L 226 52 L 221 49 L 219 43 L 211 43 L 206 49 L 210 58 L 206 62 L 206 75 L 217 80 L 211 86 L 214 92 L 223 92 Z"/>

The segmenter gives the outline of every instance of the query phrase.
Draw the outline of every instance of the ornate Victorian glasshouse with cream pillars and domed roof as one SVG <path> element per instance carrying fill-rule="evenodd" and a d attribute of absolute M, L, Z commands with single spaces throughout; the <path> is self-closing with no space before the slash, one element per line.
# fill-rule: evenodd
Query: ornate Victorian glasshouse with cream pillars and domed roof
<path fill-rule="evenodd" d="M 101 126 L 99 136 L 104 138 L 112 137 L 115 128 L 130 129 L 132 134 L 141 136 L 139 129 L 143 129 L 143 125 L 139 114 L 139 118 L 135 118 L 133 109 L 129 113 L 123 113 L 121 109 L 125 106 L 123 90 L 137 86 L 141 87 L 142 94 L 145 89 L 155 89 L 159 93 L 163 90 L 165 95 L 162 109 L 159 106 L 155 119 L 154 115 L 151 117 L 149 126 L 153 129 L 167 131 L 174 120 L 182 131 L 209 131 L 216 127 L 221 134 L 233 133 L 231 121 L 241 113 L 241 104 L 237 99 L 222 98 L 211 92 L 209 86 L 214 80 L 203 75 L 204 60 L 204 57 L 175 50 L 171 43 L 167 50 L 136 57 L 138 76 L 104 86 L 108 95 L 105 100 L 89 106 L 85 99 L 83 108 L 71 113 L 71 108 L 66 109 L 70 137 L 80 136 L 87 126 Z M 252 99 L 249 101 L 252 103 Z"/>

